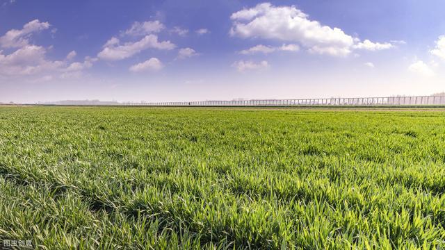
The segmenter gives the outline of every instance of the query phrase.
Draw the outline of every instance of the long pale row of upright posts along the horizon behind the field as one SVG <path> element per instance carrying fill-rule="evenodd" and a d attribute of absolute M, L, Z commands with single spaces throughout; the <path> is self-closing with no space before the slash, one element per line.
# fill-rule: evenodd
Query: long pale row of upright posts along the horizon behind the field
<path fill-rule="evenodd" d="M 118 106 L 424 106 L 445 105 L 445 96 L 262 99 L 119 103 Z"/>

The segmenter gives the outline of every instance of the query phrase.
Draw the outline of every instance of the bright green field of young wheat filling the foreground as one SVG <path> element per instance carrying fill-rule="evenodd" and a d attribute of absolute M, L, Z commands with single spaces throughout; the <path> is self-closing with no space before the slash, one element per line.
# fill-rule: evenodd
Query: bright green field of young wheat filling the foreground
<path fill-rule="evenodd" d="M 0 244 L 444 249 L 444 192 L 443 111 L 0 108 Z"/>

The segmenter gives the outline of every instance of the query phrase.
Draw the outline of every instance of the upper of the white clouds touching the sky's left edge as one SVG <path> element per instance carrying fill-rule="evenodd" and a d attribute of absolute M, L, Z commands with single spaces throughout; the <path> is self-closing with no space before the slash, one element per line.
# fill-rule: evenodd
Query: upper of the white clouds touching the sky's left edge
<path fill-rule="evenodd" d="M 29 44 L 31 34 L 49 28 L 48 22 L 35 19 L 23 26 L 21 30 L 12 29 L 0 37 L 0 46 L 3 48 L 19 48 Z"/>

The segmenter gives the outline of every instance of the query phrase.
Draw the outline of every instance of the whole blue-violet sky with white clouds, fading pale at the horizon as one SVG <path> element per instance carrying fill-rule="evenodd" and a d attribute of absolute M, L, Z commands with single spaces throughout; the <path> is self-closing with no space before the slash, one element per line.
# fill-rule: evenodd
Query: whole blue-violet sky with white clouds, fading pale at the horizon
<path fill-rule="evenodd" d="M 445 1 L 0 0 L 0 102 L 445 91 Z"/>

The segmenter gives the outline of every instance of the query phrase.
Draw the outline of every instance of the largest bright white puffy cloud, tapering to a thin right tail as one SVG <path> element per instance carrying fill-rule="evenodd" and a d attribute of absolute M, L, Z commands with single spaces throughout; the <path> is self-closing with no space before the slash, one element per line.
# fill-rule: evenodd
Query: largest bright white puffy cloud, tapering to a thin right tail
<path fill-rule="evenodd" d="M 254 8 L 234 12 L 230 35 L 240 38 L 263 38 L 298 42 L 312 53 L 331 56 L 347 56 L 355 46 L 377 50 L 388 47 L 387 43 L 362 42 L 344 33 L 340 28 L 323 26 L 309 19 L 296 6 L 273 6 L 260 3 Z M 357 47 L 357 49 L 358 49 Z"/>

